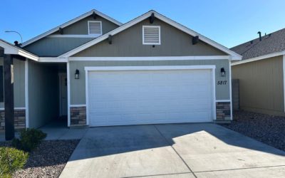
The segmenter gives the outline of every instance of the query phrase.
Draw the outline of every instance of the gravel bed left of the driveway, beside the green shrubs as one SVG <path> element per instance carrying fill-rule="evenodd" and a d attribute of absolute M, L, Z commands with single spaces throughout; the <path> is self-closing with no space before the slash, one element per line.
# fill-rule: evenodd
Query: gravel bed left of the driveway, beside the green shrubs
<path fill-rule="evenodd" d="M 48 140 L 33 150 L 24 169 L 13 177 L 58 177 L 68 162 L 79 140 Z M 0 142 L 0 146 L 9 146 L 9 142 Z"/>

